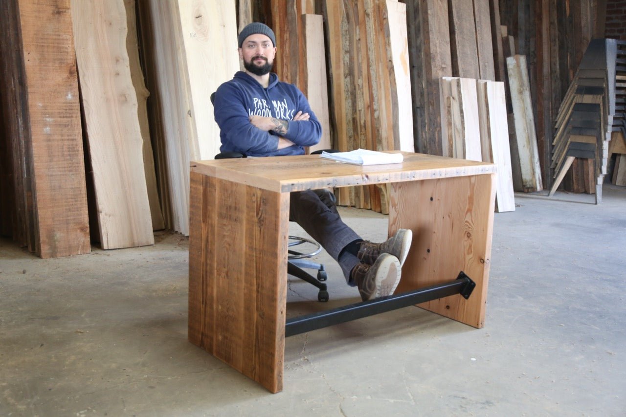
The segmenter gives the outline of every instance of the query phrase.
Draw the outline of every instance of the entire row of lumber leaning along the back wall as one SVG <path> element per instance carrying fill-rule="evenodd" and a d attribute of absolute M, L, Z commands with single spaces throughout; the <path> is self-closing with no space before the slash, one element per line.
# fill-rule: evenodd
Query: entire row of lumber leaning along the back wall
<path fill-rule="evenodd" d="M 90 12 L 105 3 L 116 32 Z M 0 6 L 0 233 L 42 257 L 90 250 L 90 230 L 102 247 L 150 244 L 162 227 L 188 234 L 188 163 L 217 152 L 207 99 L 240 68 L 237 28 L 250 21 L 274 28 L 274 71 L 310 97 L 321 147 L 499 160 L 525 191 L 552 186 L 558 111 L 588 44 L 626 38 L 626 0 L 70 4 Z M 103 39 L 90 28 L 106 48 L 93 47 Z M 608 158 L 620 182 L 622 136 Z M 575 158 L 562 187 L 594 192 L 590 163 Z M 501 209 L 514 207 L 508 184 L 498 193 Z M 356 187 L 338 198 L 385 213 L 386 194 Z"/>

